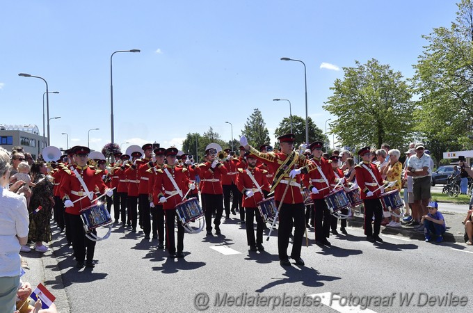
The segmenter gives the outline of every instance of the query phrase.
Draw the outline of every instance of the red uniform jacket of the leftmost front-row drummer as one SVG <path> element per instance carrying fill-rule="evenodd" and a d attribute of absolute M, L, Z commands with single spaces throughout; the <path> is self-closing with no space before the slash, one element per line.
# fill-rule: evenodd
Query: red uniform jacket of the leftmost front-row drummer
<path fill-rule="evenodd" d="M 74 175 L 74 172 L 71 172 L 70 170 L 65 170 L 65 172 L 67 175 L 64 175 L 61 180 L 60 195 L 63 200 L 70 199 L 74 202 L 75 200 L 82 198 L 83 195 L 86 195 L 86 192 L 84 191 L 81 182 L 79 182 L 79 179 Z M 77 166 L 77 172 L 82 176 L 83 182 L 86 184 L 89 192 L 93 192 L 95 188 L 98 188 L 100 193 L 105 193 L 106 186 L 102 180 L 102 170 L 91 170 L 88 166 L 84 166 L 83 168 Z M 94 194 L 93 199 L 95 198 L 97 197 Z M 88 197 L 85 197 L 82 200 L 75 202 L 74 207 L 65 208 L 65 211 L 69 214 L 79 215 L 81 209 L 90 207 L 93 203 L 95 202 L 91 202 Z"/>

